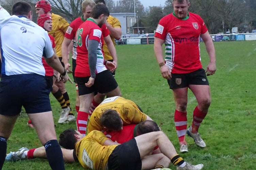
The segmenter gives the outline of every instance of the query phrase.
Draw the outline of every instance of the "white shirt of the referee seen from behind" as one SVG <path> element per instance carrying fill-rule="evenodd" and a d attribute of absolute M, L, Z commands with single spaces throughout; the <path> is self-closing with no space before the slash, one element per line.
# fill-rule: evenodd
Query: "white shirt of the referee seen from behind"
<path fill-rule="evenodd" d="M 48 33 L 23 16 L 11 16 L 0 5 L 2 75 L 45 75 L 42 56 L 54 52 Z"/>

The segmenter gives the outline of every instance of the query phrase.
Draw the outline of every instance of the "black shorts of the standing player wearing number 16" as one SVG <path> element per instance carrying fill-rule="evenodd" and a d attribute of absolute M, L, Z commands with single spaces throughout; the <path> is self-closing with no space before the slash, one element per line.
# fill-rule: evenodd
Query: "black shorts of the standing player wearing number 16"
<path fill-rule="evenodd" d="M 102 71 L 96 74 L 94 84 L 91 87 L 86 87 L 85 83 L 88 82 L 88 77 L 76 77 L 78 85 L 78 95 L 87 95 L 92 92 L 98 91 L 99 93 L 107 93 L 114 90 L 118 85 L 115 78 L 112 76 L 109 70 Z"/>

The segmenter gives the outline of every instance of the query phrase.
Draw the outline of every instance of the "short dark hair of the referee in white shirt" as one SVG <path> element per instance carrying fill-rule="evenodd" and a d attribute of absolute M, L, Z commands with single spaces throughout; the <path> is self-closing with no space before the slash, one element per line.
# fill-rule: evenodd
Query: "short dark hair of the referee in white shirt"
<path fill-rule="evenodd" d="M 25 1 L 18 1 L 13 4 L 12 15 L 28 15 L 32 11 L 32 6 Z"/>

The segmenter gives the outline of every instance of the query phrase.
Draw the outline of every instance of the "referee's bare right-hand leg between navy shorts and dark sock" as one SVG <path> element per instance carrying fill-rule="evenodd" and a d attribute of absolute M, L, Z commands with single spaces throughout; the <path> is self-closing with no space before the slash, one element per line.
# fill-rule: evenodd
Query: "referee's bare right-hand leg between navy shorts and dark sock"
<path fill-rule="evenodd" d="M 28 116 L 33 122 L 38 138 L 43 145 L 49 140 L 57 139 L 51 111 L 43 113 L 31 113 L 28 114 Z"/>

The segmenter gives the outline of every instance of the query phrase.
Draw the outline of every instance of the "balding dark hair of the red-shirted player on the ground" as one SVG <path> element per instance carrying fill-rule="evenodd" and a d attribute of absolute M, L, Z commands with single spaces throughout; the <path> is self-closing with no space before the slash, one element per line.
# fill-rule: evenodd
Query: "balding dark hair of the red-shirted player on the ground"
<path fill-rule="evenodd" d="M 153 120 L 145 120 L 137 125 L 136 131 L 139 135 L 160 131 L 158 125 Z"/>

